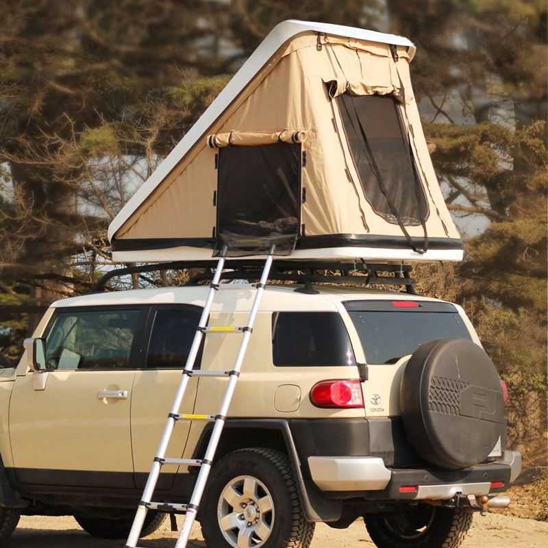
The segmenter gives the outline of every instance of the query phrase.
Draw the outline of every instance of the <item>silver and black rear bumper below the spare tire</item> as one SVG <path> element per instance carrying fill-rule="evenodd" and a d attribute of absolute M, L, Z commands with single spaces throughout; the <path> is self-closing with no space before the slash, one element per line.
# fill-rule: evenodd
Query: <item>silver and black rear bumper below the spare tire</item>
<path fill-rule="evenodd" d="M 329 498 L 443 500 L 505 491 L 521 471 L 521 455 L 503 451 L 494 462 L 455 471 L 389 469 L 378 457 L 309 457 L 308 466 Z"/>

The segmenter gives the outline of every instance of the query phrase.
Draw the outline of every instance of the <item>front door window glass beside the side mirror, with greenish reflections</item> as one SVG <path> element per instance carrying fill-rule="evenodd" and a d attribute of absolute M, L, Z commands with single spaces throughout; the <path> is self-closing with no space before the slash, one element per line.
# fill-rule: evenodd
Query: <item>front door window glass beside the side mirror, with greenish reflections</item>
<path fill-rule="evenodd" d="M 46 337 L 48 369 L 130 366 L 140 310 L 59 310 Z"/>

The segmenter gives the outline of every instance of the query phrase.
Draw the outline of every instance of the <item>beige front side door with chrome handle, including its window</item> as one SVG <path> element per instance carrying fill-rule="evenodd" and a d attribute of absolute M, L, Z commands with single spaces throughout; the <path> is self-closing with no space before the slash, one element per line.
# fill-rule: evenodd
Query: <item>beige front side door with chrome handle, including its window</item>
<path fill-rule="evenodd" d="M 55 312 L 47 370 L 16 377 L 10 402 L 18 482 L 134 486 L 129 409 L 143 316 L 139 307 Z"/>

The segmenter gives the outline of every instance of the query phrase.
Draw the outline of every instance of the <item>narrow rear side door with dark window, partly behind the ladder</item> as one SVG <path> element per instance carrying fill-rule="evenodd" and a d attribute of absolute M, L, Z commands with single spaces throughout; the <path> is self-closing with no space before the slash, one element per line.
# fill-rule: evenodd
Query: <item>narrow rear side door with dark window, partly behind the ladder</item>
<path fill-rule="evenodd" d="M 136 371 L 132 394 L 132 447 L 136 486 L 143 488 L 164 427 L 182 379 L 192 340 L 201 316 L 201 308 L 190 305 L 158 305 L 151 308 L 147 338 L 142 341 L 141 368 Z M 202 340 L 203 345 L 203 340 Z M 199 369 L 201 349 L 194 369 Z M 192 413 L 197 377 L 190 377 L 179 412 Z M 175 424 L 166 451 L 167 458 L 181 458 L 190 430 L 190 421 Z M 166 465 L 158 488 L 173 485 L 177 466 Z"/>

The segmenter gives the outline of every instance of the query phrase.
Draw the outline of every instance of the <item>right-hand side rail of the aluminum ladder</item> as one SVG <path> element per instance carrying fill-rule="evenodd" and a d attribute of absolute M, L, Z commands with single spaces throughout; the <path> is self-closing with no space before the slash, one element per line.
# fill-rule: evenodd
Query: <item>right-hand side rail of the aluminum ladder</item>
<path fill-rule="evenodd" d="M 264 264 L 264 269 L 262 271 L 260 282 L 256 286 L 257 292 L 255 295 L 255 299 L 253 300 L 253 305 L 251 306 L 251 311 L 249 312 L 247 326 L 245 332 L 242 334 L 240 347 L 238 347 L 238 353 L 236 354 L 236 360 L 234 361 L 234 373 L 232 373 L 232 375 L 230 375 L 228 379 L 227 388 L 223 396 L 223 401 L 221 402 L 221 408 L 219 409 L 219 416 L 213 426 L 211 438 L 206 449 L 206 455 L 203 458 L 203 464 L 198 473 L 194 489 L 192 490 L 190 502 L 187 506 L 186 514 L 184 516 L 184 521 L 181 527 L 181 532 L 179 533 L 179 537 L 177 538 L 177 543 L 175 543 L 175 548 L 186 548 L 188 538 L 190 538 L 190 532 L 192 530 L 192 525 L 198 512 L 198 507 L 201 501 L 201 497 L 203 495 L 203 491 L 206 488 L 206 482 L 208 481 L 209 473 L 212 467 L 212 461 L 214 459 L 217 446 L 219 445 L 219 440 L 221 439 L 221 434 L 225 425 L 225 417 L 227 415 L 230 402 L 232 401 L 232 397 L 234 396 L 234 390 L 236 390 L 238 375 L 240 373 L 242 361 L 245 356 L 245 351 L 247 350 L 249 338 L 251 337 L 253 323 L 255 322 L 257 312 L 259 310 L 262 293 L 264 292 L 264 287 L 266 286 L 266 281 L 269 277 L 269 272 L 273 261 L 274 248 L 275 246 L 272 246 L 269 251 L 269 255 L 267 256 L 266 262 Z"/>

